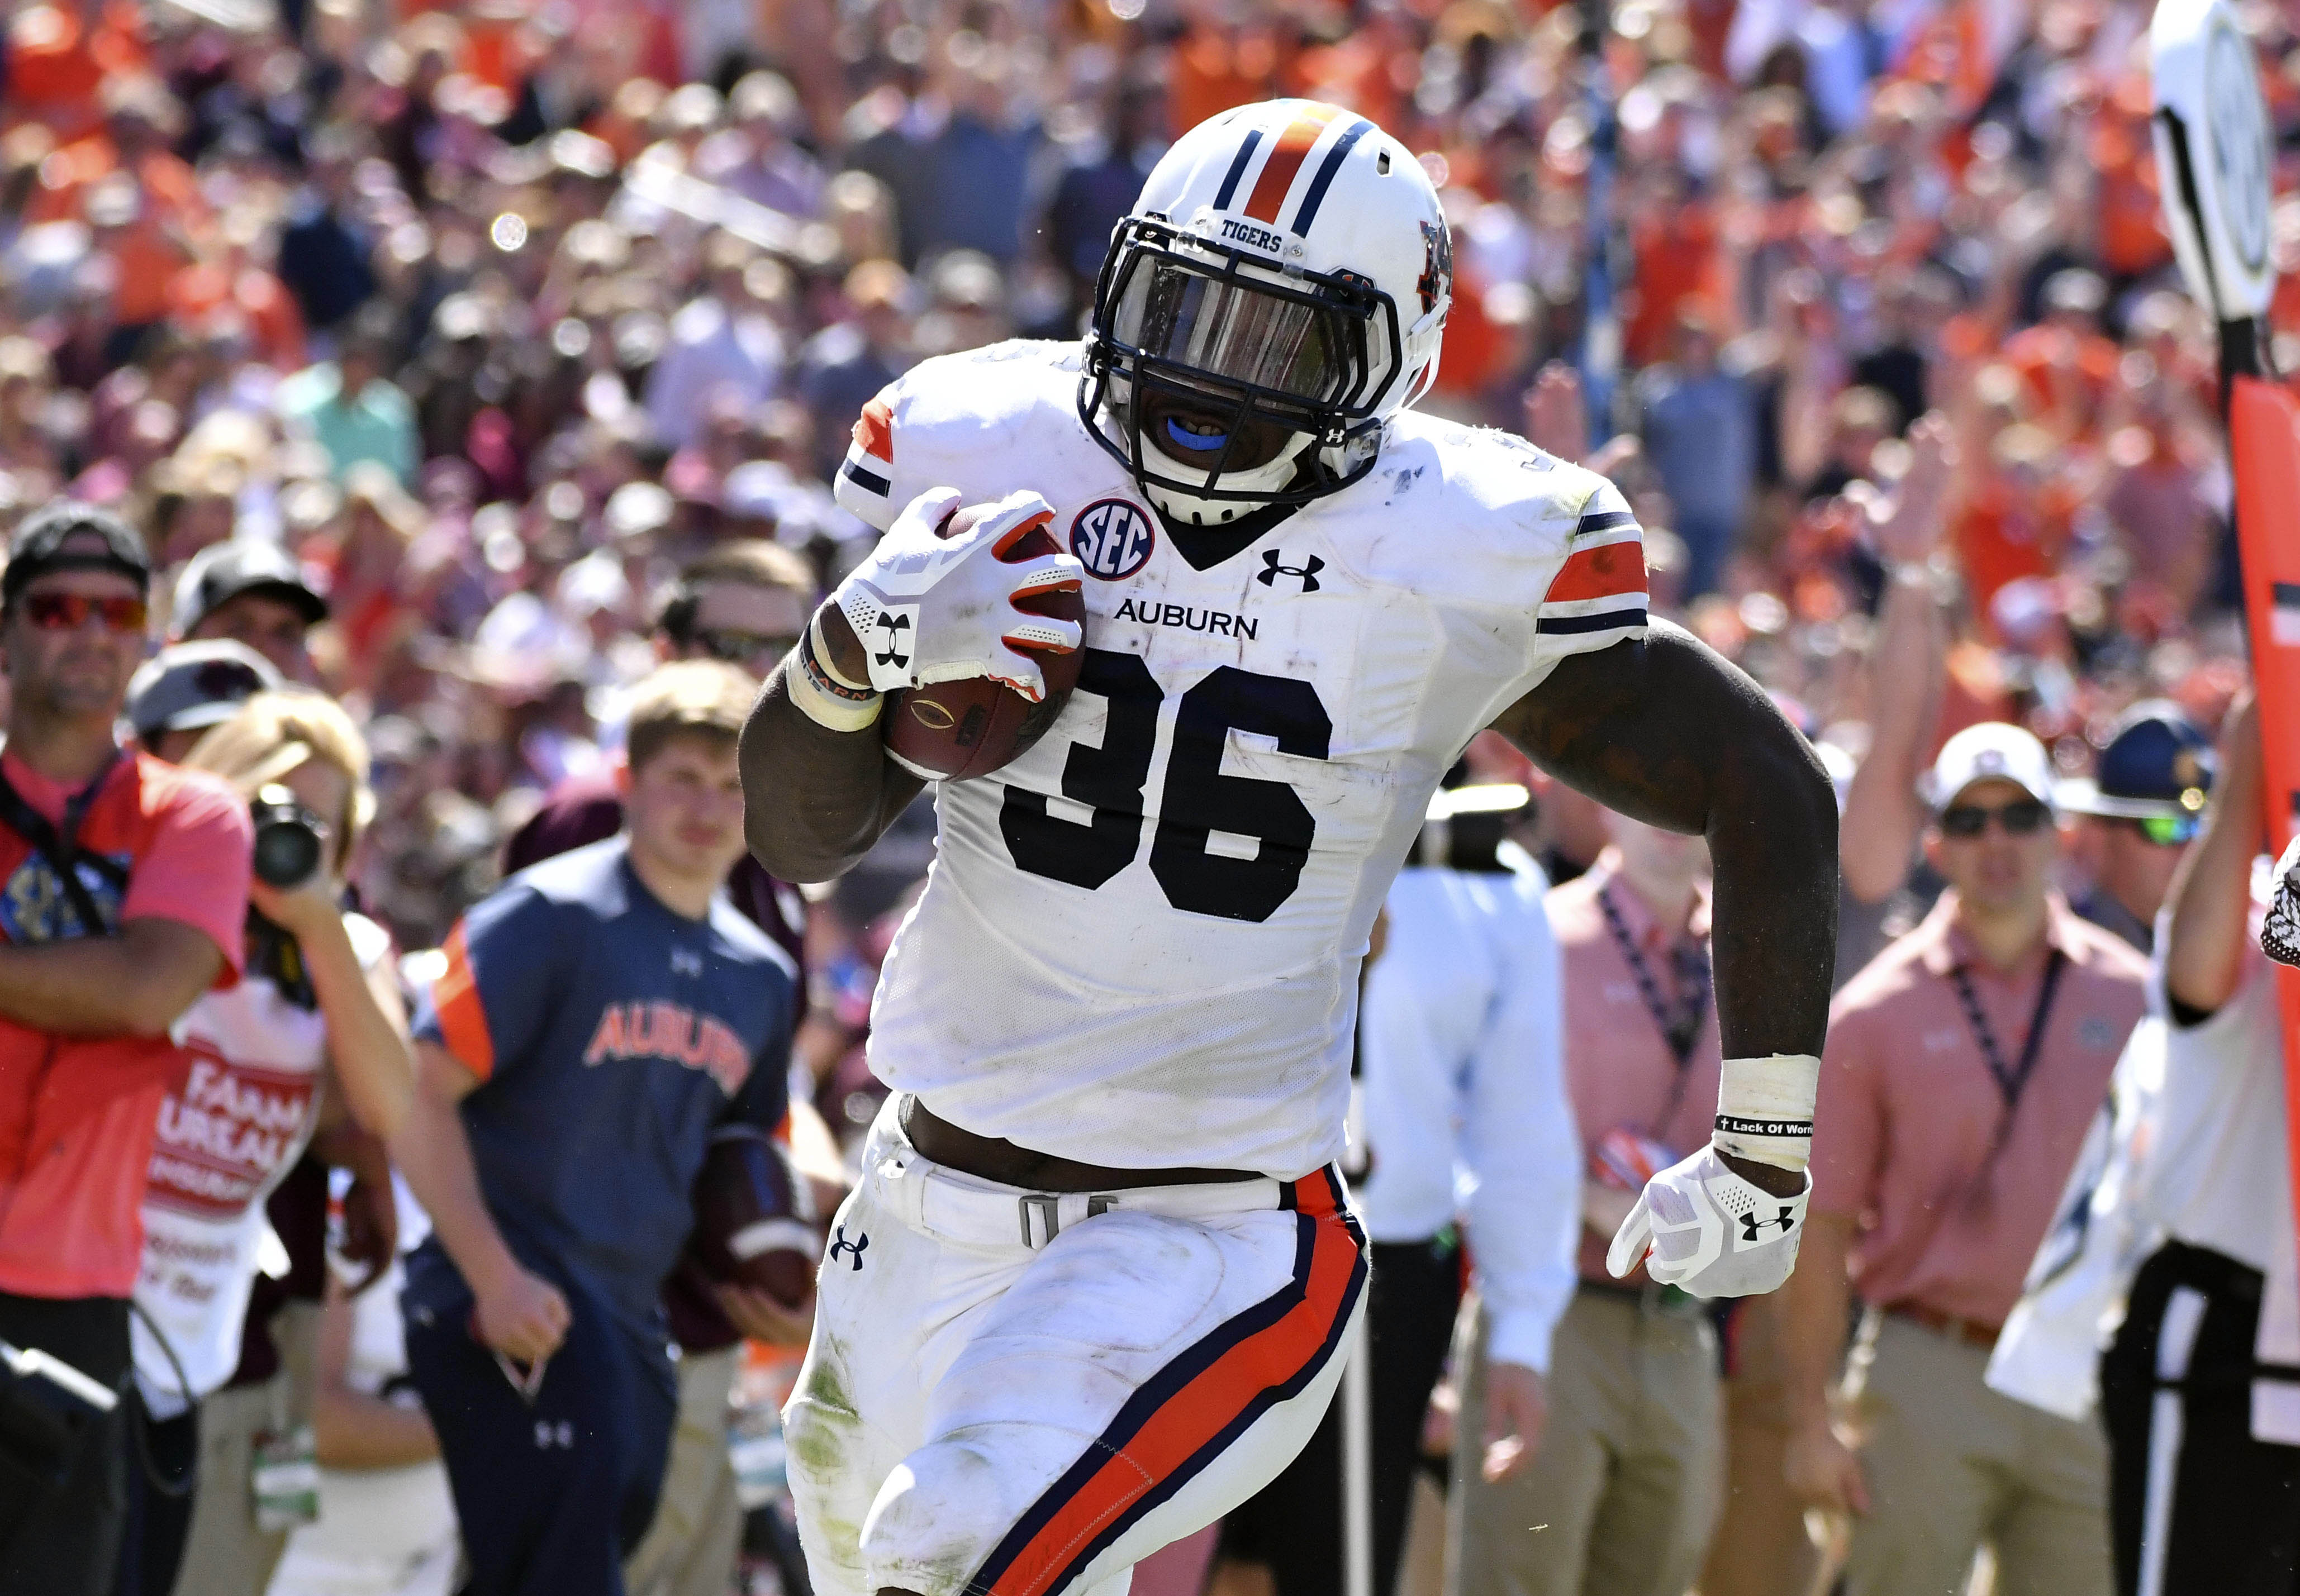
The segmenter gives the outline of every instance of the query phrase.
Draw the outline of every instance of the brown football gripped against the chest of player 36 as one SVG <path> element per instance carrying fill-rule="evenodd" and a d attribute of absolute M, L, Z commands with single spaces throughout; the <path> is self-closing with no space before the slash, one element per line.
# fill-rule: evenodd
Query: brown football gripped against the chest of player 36
<path fill-rule="evenodd" d="M 987 508 L 987 504 L 959 506 L 943 522 L 941 536 L 952 538 L 966 531 Z M 1040 522 L 1000 559 L 1014 563 L 1056 550 L 1053 536 Z M 1040 593 L 1021 600 L 1019 607 L 1063 621 L 1086 621 L 1086 598 L 1076 589 Z M 1053 718 L 1063 713 L 1063 704 L 1070 701 L 1070 690 L 1079 685 L 1083 662 L 1083 646 L 1070 653 L 1042 653 L 1040 669 L 1046 676 L 1046 697 L 1040 704 L 989 676 L 890 692 L 881 715 L 885 752 L 904 770 L 929 782 L 964 782 L 973 775 L 987 775 L 1012 764 L 1046 734 Z"/>

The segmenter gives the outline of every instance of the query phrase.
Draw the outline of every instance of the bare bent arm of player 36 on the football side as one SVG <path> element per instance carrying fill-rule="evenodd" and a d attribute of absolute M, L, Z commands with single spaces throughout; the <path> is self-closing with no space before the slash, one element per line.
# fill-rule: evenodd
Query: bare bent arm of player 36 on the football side
<path fill-rule="evenodd" d="M 860 644 L 835 609 L 823 614 L 823 639 L 839 655 L 842 674 L 862 678 Z M 918 789 L 915 775 L 885 757 L 876 722 L 833 731 L 791 701 L 784 672 L 766 678 L 743 727 L 743 826 L 750 851 L 784 881 L 833 881 L 860 862 Z"/>

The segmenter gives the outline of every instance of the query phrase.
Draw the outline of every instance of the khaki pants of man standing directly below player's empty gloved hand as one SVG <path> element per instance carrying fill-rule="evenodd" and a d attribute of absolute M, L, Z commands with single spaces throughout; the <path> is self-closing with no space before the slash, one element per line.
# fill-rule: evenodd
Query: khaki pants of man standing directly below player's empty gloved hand
<path fill-rule="evenodd" d="M 1582 1288 L 1557 1325 L 1550 1417 L 1500 1486 L 1483 1451 L 1483 1311 L 1454 1449 L 1454 1596 L 1684 1596 L 1718 1511 L 1718 1352 L 1700 1313 Z"/>

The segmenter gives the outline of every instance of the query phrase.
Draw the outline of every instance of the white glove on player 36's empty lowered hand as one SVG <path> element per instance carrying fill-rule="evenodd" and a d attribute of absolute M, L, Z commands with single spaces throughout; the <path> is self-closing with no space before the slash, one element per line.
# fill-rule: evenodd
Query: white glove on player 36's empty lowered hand
<path fill-rule="evenodd" d="M 1644 1260 L 1656 1281 L 1695 1297 L 1769 1292 L 1796 1267 L 1812 1196 L 1812 1175 L 1803 1180 L 1794 1198 L 1778 1198 L 1734 1175 L 1716 1148 L 1702 1148 L 1644 1182 L 1605 1249 L 1605 1269 L 1621 1279 Z"/>

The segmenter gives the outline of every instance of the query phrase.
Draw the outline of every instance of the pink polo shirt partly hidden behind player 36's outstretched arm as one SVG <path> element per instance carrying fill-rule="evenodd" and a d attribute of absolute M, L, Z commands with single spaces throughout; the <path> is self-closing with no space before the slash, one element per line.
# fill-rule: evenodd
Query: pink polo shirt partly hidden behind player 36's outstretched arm
<path fill-rule="evenodd" d="M 1684 1090 L 1677 1090 L 1677 1053 L 1670 1051 L 1638 989 L 1638 975 L 1621 954 L 1619 941 L 1605 924 L 1603 892 L 1621 915 L 1621 929 L 1644 954 L 1644 968 L 1654 980 L 1661 1000 L 1677 1007 L 1679 991 L 1670 961 L 1672 943 L 1709 936 L 1707 899 L 1693 906 L 1693 920 L 1684 927 L 1661 924 L 1644 901 L 1615 876 L 1615 855 L 1608 849 L 1589 874 L 1555 888 L 1546 906 L 1550 929 L 1557 934 L 1557 950 L 1564 954 L 1564 1021 L 1566 1021 L 1566 1090 L 1573 1095 L 1573 1118 L 1582 1136 L 1582 1171 L 1598 1138 L 1612 1129 L 1649 1136 L 1684 1157 L 1709 1141 L 1718 1111 L 1718 1051 L 1716 998 L 1693 1039 L 1693 1053 L 1684 1072 Z M 1677 1097 L 1674 1106 L 1670 1097 Z M 1605 1274 L 1605 1242 L 1582 1228 L 1580 1272 L 1585 1281 L 1612 1281 Z M 1644 1279 L 1640 1269 L 1631 1279 Z"/>

